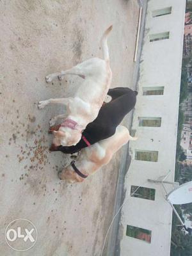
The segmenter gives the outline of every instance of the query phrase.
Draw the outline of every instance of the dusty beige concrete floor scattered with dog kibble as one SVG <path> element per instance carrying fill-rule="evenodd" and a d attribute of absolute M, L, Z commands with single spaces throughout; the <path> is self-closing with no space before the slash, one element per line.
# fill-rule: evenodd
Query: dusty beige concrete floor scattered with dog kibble
<path fill-rule="evenodd" d="M 136 0 L 0 1 L 0 254 L 99 255 L 113 214 L 121 152 L 82 184 L 67 185 L 57 172 L 68 163 L 49 153 L 49 119 L 38 100 L 72 96 L 79 79 L 45 83 L 45 75 L 102 56 L 100 36 L 109 25 L 111 87 L 132 87 L 139 6 Z M 17 218 L 35 224 L 33 248 L 16 252 L 4 239 Z"/>

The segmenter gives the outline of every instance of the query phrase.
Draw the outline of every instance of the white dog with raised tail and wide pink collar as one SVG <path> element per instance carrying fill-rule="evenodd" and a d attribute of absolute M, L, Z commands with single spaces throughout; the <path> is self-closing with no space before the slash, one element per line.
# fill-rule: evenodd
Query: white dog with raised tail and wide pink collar
<path fill-rule="evenodd" d="M 92 58 L 78 64 L 77 66 L 63 70 L 60 73 L 51 74 L 46 77 L 47 82 L 52 79 L 63 77 L 67 74 L 76 75 L 83 78 L 83 83 L 77 89 L 74 98 L 49 99 L 38 103 L 38 108 L 42 109 L 48 104 L 64 104 L 67 106 L 65 115 L 55 116 L 50 120 L 50 125 L 56 124 L 59 119 L 65 118 L 58 131 L 54 131 L 53 144 L 55 146 L 72 146 L 81 140 L 81 131 L 86 125 L 93 122 L 99 113 L 99 109 L 104 102 L 111 84 L 112 72 L 109 66 L 109 52 L 107 45 L 110 26 L 101 39 L 104 60 Z"/>

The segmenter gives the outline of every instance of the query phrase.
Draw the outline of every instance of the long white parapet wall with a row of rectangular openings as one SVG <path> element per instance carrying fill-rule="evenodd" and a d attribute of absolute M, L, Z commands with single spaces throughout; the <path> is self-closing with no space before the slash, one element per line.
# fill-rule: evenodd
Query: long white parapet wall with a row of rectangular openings
<path fill-rule="evenodd" d="M 145 37 L 140 63 L 138 99 L 132 130 L 137 141 L 130 143 L 132 163 L 125 177 L 125 204 L 122 208 L 123 227 L 120 241 L 122 256 L 170 255 L 172 209 L 164 198 L 160 185 L 148 182 L 171 173 L 173 182 L 177 143 L 180 74 L 184 35 L 185 0 L 150 0 L 145 26 Z M 172 13 L 152 17 L 152 11 L 172 6 Z M 149 42 L 150 35 L 170 32 L 170 38 Z M 143 95 L 143 87 L 164 86 L 163 95 Z M 161 127 L 140 127 L 139 117 L 161 117 Z M 138 161 L 135 150 L 158 151 L 157 162 Z M 156 189 L 155 200 L 131 197 L 131 186 Z M 171 186 L 166 186 L 169 190 Z M 127 225 L 152 231 L 151 243 L 126 236 Z"/>

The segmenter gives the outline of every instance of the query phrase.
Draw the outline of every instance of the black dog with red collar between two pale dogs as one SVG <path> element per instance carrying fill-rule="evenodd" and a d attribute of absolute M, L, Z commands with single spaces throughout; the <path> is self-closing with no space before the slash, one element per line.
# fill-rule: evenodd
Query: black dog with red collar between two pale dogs
<path fill-rule="evenodd" d="M 130 88 L 116 87 L 109 89 L 108 95 L 111 96 L 112 100 L 100 108 L 97 118 L 88 124 L 82 133 L 91 145 L 115 134 L 116 127 L 122 122 L 124 116 L 134 108 L 138 92 Z M 59 146 L 50 148 L 50 150 L 61 151 L 65 154 L 74 154 L 85 147 L 88 147 L 88 145 L 81 138 L 75 146 Z"/>

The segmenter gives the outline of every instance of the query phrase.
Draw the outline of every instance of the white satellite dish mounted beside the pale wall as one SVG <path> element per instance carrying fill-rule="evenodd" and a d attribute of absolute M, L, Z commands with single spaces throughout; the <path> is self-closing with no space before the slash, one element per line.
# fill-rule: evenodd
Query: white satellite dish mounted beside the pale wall
<path fill-rule="evenodd" d="M 192 181 L 184 183 L 179 188 L 171 191 L 167 200 L 171 204 L 189 204 L 192 203 Z"/>

